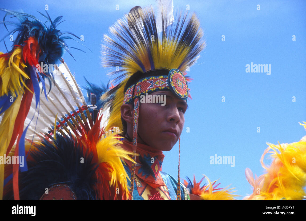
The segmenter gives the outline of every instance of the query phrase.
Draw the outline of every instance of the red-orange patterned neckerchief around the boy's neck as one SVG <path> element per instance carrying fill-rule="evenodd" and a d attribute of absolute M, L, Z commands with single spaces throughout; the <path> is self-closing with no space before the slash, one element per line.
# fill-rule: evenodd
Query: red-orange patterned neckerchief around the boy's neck
<path fill-rule="evenodd" d="M 122 147 L 125 150 L 133 151 L 132 142 L 122 140 Z M 151 148 L 148 145 L 137 143 L 136 152 L 140 156 L 136 156 L 135 175 L 146 182 L 153 188 L 158 188 L 165 185 L 159 171 L 162 169 L 162 161 L 165 157 L 159 149 Z M 132 162 L 125 161 L 129 168 L 132 168 Z"/>

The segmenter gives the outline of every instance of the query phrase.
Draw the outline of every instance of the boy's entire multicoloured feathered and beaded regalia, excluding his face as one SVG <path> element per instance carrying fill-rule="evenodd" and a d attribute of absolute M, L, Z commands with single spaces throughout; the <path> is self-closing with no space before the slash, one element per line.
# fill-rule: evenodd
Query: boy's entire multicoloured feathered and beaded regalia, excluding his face
<path fill-rule="evenodd" d="M 86 80 L 85 99 L 62 59 L 64 50 L 71 54 L 65 40 L 72 39 L 57 28 L 62 16 L 52 21 L 47 12 L 41 13 L 50 22 L 47 26 L 32 15 L 2 10 L 19 23 L 1 22 L 16 25 L 12 32 L 18 32 L 18 37 L 12 50 L 0 54 L 0 198 L 237 196 L 233 188 L 218 188 L 217 181 L 208 178 L 203 186 L 203 178 L 181 183 L 179 165 L 178 178 L 171 177 L 161 171 L 162 151 L 137 142 L 141 96 L 167 91 L 183 101 L 191 98 L 185 72 L 204 48 L 194 13 L 173 15 L 161 7 L 155 14 L 152 7 L 135 7 L 119 19 L 104 36 L 102 48 L 104 66 L 115 69 L 109 73 L 111 87 L 97 87 Z M 62 64 L 55 65 L 57 61 Z M 131 137 L 121 119 L 123 104 L 133 107 Z M 305 138 L 293 144 L 269 145 L 275 160 L 270 167 L 263 165 L 267 174 L 254 180 L 246 170 L 254 187 L 247 198 L 302 198 Z M 289 160 L 292 157 L 296 162 Z"/>

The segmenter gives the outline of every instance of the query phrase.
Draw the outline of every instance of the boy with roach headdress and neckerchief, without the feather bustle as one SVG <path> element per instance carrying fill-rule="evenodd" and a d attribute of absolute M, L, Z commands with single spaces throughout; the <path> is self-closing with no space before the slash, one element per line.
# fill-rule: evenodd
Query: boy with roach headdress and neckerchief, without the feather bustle
<path fill-rule="evenodd" d="M 102 53 L 119 84 L 111 98 L 106 128 L 119 126 L 122 147 L 137 153 L 126 161 L 133 199 L 189 199 L 187 189 L 161 171 L 164 155 L 180 139 L 187 110 L 186 71 L 203 49 L 202 30 L 195 15 L 177 14 L 174 22 L 162 13 L 162 33 L 152 8 L 136 8 L 110 27 Z M 170 24 L 170 25 L 168 25 Z M 121 118 L 119 118 L 121 116 Z M 122 125 L 121 125 L 122 122 Z"/>

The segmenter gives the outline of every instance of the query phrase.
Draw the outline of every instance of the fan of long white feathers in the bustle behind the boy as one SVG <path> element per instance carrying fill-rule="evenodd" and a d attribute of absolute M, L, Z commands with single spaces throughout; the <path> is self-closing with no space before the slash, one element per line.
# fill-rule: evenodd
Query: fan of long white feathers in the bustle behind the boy
<path fill-rule="evenodd" d="M 26 134 L 26 138 L 28 139 L 32 139 L 34 137 L 34 141 L 39 140 L 39 135 L 52 130 L 54 127 L 54 122 L 58 122 L 62 116 L 67 114 L 67 111 L 78 110 L 76 102 L 82 106 L 82 104 L 79 103 L 81 101 L 81 96 L 79 93 L 80 88 L 77 88 L 79 86 L 74 83 L 68 70 L 63 64 L 60 65 L 58 69 L 59 71 L 53 71 L 55 83 L 52 82 L 51 91 L 47 96 L 48 101 L 42 93 L 40 95 L 40 106 L 35 110 L 35 96 L 33 96 L 28 116 L 24 122 L 24 129 L 30 123 Z M 64 76 L 68 81 L 68 85 L 62 76 Z M 49 82 L 45 81 L 45 85 L 48 92 L 50 88 Z M 40 90 L 42 90 L 41 83 Z M 57 118 L 56 114 L 58 115 Z M 34 118 L 31 121 L 33 116 Z M 70 131 L 73 130 L 71 128 L 69 129 Z M 64 133 L 66 132 L 64 131 Z"/>

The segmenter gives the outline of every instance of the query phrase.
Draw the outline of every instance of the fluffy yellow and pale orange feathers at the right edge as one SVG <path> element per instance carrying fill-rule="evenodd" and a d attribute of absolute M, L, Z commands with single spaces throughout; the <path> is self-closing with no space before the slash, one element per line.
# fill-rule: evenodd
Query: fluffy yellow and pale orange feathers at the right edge
<path fill-rule="evenodd" d="M 306 122 L 303 125 L 306 129 Z M 301 200 L 306 196 L 306 140 L 303 137 L 299 142 L 291 144 L 274 145 L 267 143 L 269 147 L 261 157 L 261 165 L 267 170 L 255 181 L 250 170 L 246 169 L 246 178 L 254 187 L 249 200 Z M 269 150 L 273 150 L 269 152 Z M 263 163 L 263 158 L 271 153 L 274 158 L 270 167 Z"/>

